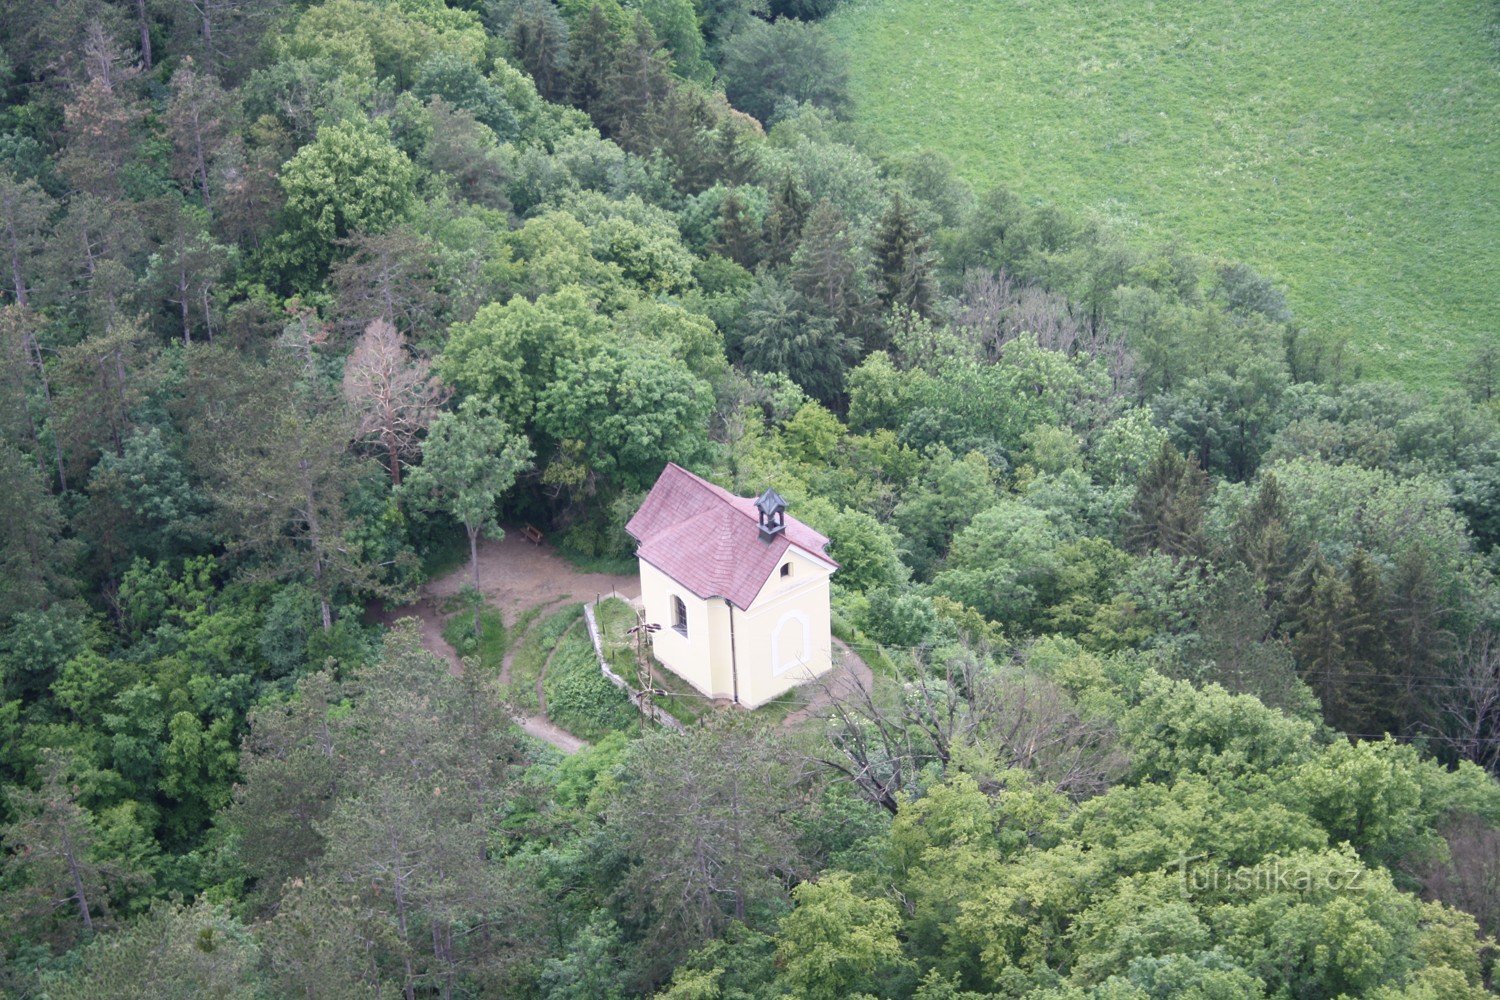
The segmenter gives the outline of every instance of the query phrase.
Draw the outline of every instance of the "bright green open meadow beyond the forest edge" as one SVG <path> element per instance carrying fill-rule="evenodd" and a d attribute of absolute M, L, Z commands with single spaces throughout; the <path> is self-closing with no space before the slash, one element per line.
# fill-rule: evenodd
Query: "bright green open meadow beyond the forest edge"
<path fill-rule="evenodd" d="M 854 0 L 830 25 L 878 150 L 1245 261 L 1370 376 L 1452 382 L 1497 333 L 1488 0 Z"/>

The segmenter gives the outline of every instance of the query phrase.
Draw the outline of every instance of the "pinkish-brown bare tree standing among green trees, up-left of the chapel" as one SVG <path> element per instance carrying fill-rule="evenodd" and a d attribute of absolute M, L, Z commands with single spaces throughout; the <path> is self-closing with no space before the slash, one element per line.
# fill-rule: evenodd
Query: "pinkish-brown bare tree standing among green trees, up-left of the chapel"
<path fill-rule="evenodd" d="M 448 390 L 432 373 L 432 361 L 406 351 L 406 339 L 384 319 L 364 328 L 344 369 L 344 397 L 357 415 L 357 441 L 380 441 L 390 465 L 390 481 L 400 486 L 402 456 L 411 454 L 417 438 Z"/>

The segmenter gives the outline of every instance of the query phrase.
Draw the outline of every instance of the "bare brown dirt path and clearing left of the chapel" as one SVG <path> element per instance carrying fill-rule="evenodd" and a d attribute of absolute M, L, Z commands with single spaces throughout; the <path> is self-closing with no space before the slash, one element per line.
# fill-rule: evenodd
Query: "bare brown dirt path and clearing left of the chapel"
<path fill-rule="evenodd" d="M 416 618 L 422 622 L 422 645 L 448 664 L 453 675 L 464 672 L 464 661 L 458 652 L 442 639 L 442 619 L 438 606 L 444 598 L 458 594 L 472 580 L 468 564 L 432 580 L 422 588 L 422 598 L 405 607 L 380 609 L 375 618 L 386 624 L 399 618 Z M 552 606 L 560 601 L 591 601 L 600 594 L 620 594 L 626 598 L 640 595 L 640 579 L 634 574 L 584 573 L 560 556 L 552 547 L 536 546 L 526 541 L 519 528 L 508 528 L 500 541 L 486 541 L 478 547 L 478 586 L 484 595 L 484 603 L 500 609 L 506 622 L 516 622 L 524 612 L 537 606 Z M 534 628 L 544 615 L 537 615 L 530 628 Z M 530 631 L 528 628 L 528 631 Z M 525 633 L 512 636 L 507 643 L 506 657 L 501 661 L 501 681 L 510 679 L 510 664 L 520 639 Z M 556 649 L 554 649 L 556 652 Z M 548 664 L 552 657 L 548 657 Z M 588 744 L 573 733 L 564 730 L 546 717 L 546 696 L 542 691 L 542 679 L 546 678 L 546 666 L 542 678 L 537 679 L 537 705 L 542 706 L 538 715 L 518 715 L 516 724 L 522 732 L 546 741 L 566 754 L 576 753 Z"/>

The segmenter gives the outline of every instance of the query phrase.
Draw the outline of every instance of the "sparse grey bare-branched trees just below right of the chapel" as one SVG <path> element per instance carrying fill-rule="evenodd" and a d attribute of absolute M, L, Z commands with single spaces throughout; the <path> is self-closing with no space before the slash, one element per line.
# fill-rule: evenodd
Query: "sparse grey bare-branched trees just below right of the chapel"
<path fill-rule="evenodd" d="M 944 772 L 956 756 L 1030 771 L 1074 798 L 1098 795 L 1124 769 L 1107 721 L 1078 712 L 1046 678 L 970 651 L 936 669 L 918 663 L 890 685 L 848 678 L 824 691 L 826 739 L 808 760 L 891 814 L 918 772 Z"/>

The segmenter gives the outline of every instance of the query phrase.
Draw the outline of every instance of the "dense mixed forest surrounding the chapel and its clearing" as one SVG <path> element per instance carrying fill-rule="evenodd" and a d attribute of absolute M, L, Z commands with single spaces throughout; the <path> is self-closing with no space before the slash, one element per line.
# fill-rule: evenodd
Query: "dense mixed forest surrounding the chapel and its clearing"
<path fill-rule="evenodd" d="M 0 996 L 1491 996 L 1500 343 L 882 153 L 836 6 L 0 0 Z M 566 754 L 380 613 L 666 462 L 870 685 Z"/>

